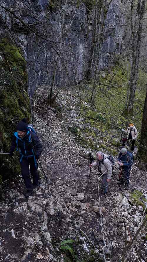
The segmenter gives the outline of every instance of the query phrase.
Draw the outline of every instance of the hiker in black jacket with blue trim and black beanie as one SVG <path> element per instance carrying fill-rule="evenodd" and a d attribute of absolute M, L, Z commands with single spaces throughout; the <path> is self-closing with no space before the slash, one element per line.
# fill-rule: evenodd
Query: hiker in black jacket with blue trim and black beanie
<path fill-rule="evenodd" d="M 14 133 L 12 138 L 9 154 L 13 156 L 15 148 L 19 149 L 21 175 L 26 186 L 25 197 L 29 197 L 33 189 L 39 184 L 36 159 L 39 159 L 41 155 L 42 145 L 36 133 L 30 131 L 25 118 L 19 121 L 16 130 L 17 132 Z M 33 184 L 29 174 L 29 165 Z"/>

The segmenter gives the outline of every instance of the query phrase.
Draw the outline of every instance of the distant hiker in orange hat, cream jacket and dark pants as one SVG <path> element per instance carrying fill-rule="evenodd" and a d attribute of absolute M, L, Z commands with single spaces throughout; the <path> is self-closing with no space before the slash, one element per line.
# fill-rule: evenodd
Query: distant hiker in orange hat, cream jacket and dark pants
<path fill-rule="evenodd" d="M 135 141 L 136 141 L 136 138 L 138 136 L 138 132 L 137 132 L 136 127 L 133 125 L 133 123 L 130 123 L 129 127 L 127 128 L 127 130 L 122 129 L 122 131 L 127 134 L 127 137 L 122 139 L 122 141 L 123 141 L 122 146 L 125 146 L 125 142 L 127 140 L 131 139 L 132 140 L 131 151 L 133 151 L 134 150 Z"/>

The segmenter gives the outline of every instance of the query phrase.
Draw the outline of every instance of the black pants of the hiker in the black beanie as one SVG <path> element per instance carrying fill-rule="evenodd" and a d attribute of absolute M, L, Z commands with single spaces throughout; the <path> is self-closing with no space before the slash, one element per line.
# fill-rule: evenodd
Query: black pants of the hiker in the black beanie
<path fill-rule="evenodd" d="M 22 158 L 21 165 L 21 176 L 24 179 L 26 189 L 33 190 L 33 185 L 38 184 L 38 172 L 35 166 L 34 157 Z M 29 172 L 30 165 L 30 172 Z M 33 185 L 31 182 L 30 174 L 33 177 Z"/>

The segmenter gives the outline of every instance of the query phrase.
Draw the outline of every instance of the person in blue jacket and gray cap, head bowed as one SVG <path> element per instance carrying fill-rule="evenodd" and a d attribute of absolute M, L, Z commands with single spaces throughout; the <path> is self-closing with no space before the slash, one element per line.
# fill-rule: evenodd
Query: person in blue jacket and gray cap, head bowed
<path fill-rule="evenodd" d="M 123 147 L 119 153 L 118 164 L 120 165 L 121 169 L 121 185 L 125 184 L 125 189 L 128 190 L 129 188 L 129 177 L 130 177 L 130 170 L 133 164 L 133 155 L 127 151 L 125 147 Z"/>

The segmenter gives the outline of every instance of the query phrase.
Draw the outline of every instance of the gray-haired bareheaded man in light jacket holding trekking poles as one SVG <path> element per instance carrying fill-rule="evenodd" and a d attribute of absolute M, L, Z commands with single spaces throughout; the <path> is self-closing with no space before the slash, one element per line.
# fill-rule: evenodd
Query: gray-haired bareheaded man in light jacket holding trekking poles
<path fill-rule="evenodd" d="M 102 174 L 101 193 L 106 194 L 108 191 L 108 183 L 112 176 L 112 164 L 107 158 L 108 155 L 101 151 L 97 153 L 97 160 L 90 165 L 90 167 L 97 167 L 98 172 Z"/>

